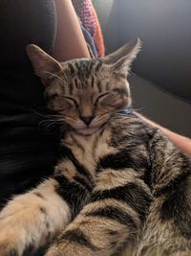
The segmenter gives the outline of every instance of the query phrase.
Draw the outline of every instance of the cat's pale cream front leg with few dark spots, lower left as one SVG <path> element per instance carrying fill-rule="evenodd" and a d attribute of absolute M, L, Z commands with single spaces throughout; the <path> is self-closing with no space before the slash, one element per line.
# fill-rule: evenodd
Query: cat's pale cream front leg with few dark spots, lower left
<path fill-rule="evenodd" d="M 13 198 L 0 213 L 0 255 L 20 256 L 46 244 L 70 221 L 68 204 L 47 179 L 31 192 Z"/>

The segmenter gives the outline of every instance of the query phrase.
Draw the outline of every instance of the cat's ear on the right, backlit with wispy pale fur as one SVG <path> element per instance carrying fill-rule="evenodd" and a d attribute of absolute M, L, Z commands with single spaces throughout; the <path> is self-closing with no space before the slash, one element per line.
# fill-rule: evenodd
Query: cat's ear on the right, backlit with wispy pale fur
<path fill-rule="evenodd" d="M 110 65 L 117 73 L 120 73 L 126 77 L 128 75 L 128 71 L 130 70 L 132 61 L 138 55 L 140 47 L 141 41 L 138 38 L 125 44 L 113 54 L 102 58 L 102 60 L 106 64 Z"/>

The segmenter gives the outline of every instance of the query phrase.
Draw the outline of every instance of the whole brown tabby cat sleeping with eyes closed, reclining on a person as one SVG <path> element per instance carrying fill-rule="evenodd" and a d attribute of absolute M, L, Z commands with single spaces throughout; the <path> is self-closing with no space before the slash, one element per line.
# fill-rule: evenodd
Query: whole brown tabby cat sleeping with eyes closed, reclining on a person
<path fill-rule="evenodd" d="M 139 50 L 59 63 L 27 53 L 60 125 L 53 176 L 0 213 L 0 255 L 191 255 L 191 158 L 131 110 Z"/>

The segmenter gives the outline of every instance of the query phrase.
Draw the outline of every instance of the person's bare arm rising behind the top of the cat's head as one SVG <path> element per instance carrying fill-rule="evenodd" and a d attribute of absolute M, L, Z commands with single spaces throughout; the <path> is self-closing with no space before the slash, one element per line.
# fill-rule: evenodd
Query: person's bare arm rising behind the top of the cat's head
<path fill-rule="evenodd" d="M 71 0 L 54 0 L 57 14 L 57 32 L 53 58 L 66 61 L 72 58 L 90 58 L 80 24 Z"/>

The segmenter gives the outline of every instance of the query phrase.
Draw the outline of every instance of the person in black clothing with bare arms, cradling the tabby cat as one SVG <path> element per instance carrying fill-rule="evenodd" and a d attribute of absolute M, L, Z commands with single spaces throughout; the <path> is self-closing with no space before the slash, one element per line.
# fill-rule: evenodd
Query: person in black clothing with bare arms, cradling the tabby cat
<path fill-rule="evenodd" d="M 47 118 L 47 110 L 43 86 L 33 74 L 26 46 L 37 44 L 59 61 L 90 58 L 90 51 L 71 0 L 1 1 L 0 16 L 0 207 L 3 207 L 12 195 L 29 190 L 51 175 L 58 157 L 57 133 L 39 127 Z M 190 139 L 160 129 L 180 150 L 191 154 Z"/>

